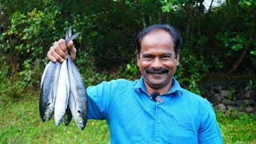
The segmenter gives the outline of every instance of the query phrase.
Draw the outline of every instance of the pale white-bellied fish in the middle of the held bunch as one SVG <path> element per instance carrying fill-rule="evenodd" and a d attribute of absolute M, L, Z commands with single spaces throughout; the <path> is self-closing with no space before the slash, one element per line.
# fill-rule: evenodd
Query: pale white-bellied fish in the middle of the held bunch
<path fill-rule="evenodd" d="M 54 121 L 56 126 L 59 126 L 62 123 L 70 96 L 70 79 L 66 61 L 67 60 L 62 62 L 58 78 L 58 88 L 56 89 L 57 94 L 54 104 Z"/>

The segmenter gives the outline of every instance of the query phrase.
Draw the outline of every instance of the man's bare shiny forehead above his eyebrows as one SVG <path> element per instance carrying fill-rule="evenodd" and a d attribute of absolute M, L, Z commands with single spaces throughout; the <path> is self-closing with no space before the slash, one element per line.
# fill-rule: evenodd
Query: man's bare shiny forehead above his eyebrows
<path fill-rule="evenodd" d="M 141 52 L 149 50 L 174 51 L 174 40 L 166 30 L 153 30 L 141 41 Z"/>

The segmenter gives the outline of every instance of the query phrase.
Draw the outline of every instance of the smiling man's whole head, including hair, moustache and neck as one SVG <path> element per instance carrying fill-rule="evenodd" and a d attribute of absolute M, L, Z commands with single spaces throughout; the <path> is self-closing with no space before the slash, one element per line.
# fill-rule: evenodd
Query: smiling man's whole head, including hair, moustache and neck
<path fill-rule="evenodd" d="M 146 90 L 166 93 L 178 66 L 180 34 L 168 25 L 154 25 L 136 38 L 138 67 Z"/>

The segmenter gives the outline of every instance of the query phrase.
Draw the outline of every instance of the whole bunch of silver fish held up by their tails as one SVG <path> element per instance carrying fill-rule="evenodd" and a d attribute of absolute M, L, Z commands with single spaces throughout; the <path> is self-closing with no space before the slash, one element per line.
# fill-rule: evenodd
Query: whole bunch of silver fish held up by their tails
<path fill-rule="evenodd" d="M 66 30 L 66 45 L 80 32 L 72 35 L 71 27 Z M 69 125 L 72 117 L 77 126 L 84 130 L 88 115 L 86 86 L 74 62 L 68 58 L 60 62 L 49 62 L 42 74 L 39 112 L 42 122 L 50 120 L 59 126 L 64 122 Z"/>

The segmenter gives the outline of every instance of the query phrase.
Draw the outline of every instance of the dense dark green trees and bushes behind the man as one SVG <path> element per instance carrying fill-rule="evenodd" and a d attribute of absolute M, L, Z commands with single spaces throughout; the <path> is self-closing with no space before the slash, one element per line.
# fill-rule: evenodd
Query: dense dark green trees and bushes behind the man
<path fill-rule="evenodd" d="M 234 74 L 253 75 L 256 66 L 255 2 L 231 0 L 205 10 L 203 0 L 0 1 L 0 54 L 8 76 L 22 89 L 39 87 L 46 52 L 67 27 L 81 31 L 74 61 L 86 85 L 111 78 L 140 78 L 134 38 L 143 27 L 170 23 L 183 38 L 175 78 L 200 94 L 198 83 L 222 74 L 248 48 Z M 250 67 L 250 69 L 248 69 Z M 14 76 L 15 75 L 15 76 Z M 13 90 L 14 91 L 14 90 Z M 13 94 L 18 95 L 18 94 Z"/>

